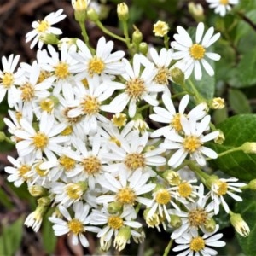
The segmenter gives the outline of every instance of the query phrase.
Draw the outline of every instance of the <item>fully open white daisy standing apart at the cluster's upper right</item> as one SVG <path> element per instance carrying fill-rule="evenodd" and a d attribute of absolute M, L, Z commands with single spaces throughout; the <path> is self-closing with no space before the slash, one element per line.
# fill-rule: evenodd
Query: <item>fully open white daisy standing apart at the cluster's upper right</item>
<path fill-rule="evenodd" d="M 182 26 L 177 26 L 177 34 L 173 36 L 175 41 L 171 43 L 171 46 L 177 52 L 172 54 L 172 59 L 179 60 L 177 61 L 177 65 L 179 65 L 178 63 L 183 64 L 185 79 L 188 79 L 194 70 L 195 79 L 201 80 L 201 65 L 210 76 L 214 75 L 214 70 L 207 61 L 207 58 L 218 61 L 220 55 L 208 52 L 207 48 L 218 40 L 220 33 L 218 32 L 213 35 L 214 29 L 210 27 L 203 36 L 204 29 L 204 24 L 200 22 L 195 32 L 195 43 L 193 43 L 189 33 Z"/>

